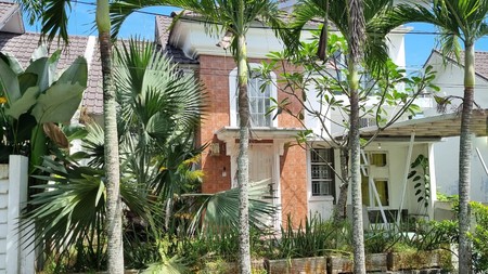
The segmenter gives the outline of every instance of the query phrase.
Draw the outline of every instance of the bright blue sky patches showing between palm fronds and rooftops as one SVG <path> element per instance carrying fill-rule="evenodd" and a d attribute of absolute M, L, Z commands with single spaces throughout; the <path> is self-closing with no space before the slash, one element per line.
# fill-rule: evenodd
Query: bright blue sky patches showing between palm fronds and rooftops
<path fill-rule="evenodd" d="M 73 1 L 72 13 L 69 17 L 68 32 L 72 35 L 95 35 L 93 32 L 94 6 Z M 143 12 L 170 14 L 176 9 L 172 8 L 151 8 L 144 9 Z M 147 13 L 134 13 L 125 22 L 120 30 L 120 37 L 141 36 L 146 39 L 154 38 L 154 15 Z M 406 58 L 407 69 L 418 70 L 431 54 L 435 47 L 435 35 L 432 35 L 436 29 L 426 24 L 410 24 L 413 27 L 411 34 L 406 35 Z M 28 26 L 26 28 L 30 31 L 38 31 L 39 26 Z M 488 51 L 488 38 L 481 38 L 476 43 L 476 50 Z"/>

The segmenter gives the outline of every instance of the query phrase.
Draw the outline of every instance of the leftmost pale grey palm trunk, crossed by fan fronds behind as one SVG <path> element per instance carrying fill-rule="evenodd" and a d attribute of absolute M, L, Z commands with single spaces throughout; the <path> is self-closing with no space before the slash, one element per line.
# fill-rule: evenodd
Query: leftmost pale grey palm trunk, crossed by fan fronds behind
<path fill-rule="evenodd" d="M 103 79 L 103 113 L 105 130 L 106 174 L 106 232 L 108 237 L 108 273 L 124 273 L 121 235 L 120 174 L 118 160 L 117 114 L 115 90 L 112 83 L 111 21 L 108 0 L 97 0 L 97 27 L 99 29 L 100 57 Z"/>

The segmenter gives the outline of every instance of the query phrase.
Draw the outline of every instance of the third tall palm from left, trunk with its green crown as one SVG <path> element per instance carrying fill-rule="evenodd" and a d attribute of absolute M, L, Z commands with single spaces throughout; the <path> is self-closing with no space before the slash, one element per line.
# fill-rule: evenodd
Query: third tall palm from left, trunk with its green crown
<path fill-rule="evenodd" d="M 352 229 L 354 229 L 354 256 L 355 273 L 365 273 L 364 244 L 362 224 L 361 200 L 361 174 L 360 174 L 360 140 L 359 140 L 359 71 L 362 65 L 370 71 L 383 69 L 388 58 L 385 36 L 391 28 L 381 23 L 386 12 L 391 6 L 390 0 L 301 0 L 298 2 L 294 14 L 296 19 L 293 26 L 296 28 L 295 37 L 299 37 L 299 30 L 312 18 L 323 17 L 325 25 L 319 41 L 319 57 L 326 44 L 326 24 L 331 22 L 345 37 L 348 44 L 348 96 L 350 102 L 349 114 L 349 151 L 350 151 L 350 180 L 343 178 L 341 194 L 336 206 L 337 218 L 345 218 L 343 208 L 346 206 L 348 183 L 352 193 Z M 324 30 L 325 29 L 325 30 Z M 288 44 L 292 48 L 297 43 Z M 347 154 L 343 154 L 344 158 Z M 346 160 L 343 160 L 346 162 Z M 343 175 L 347 172 L 343 172 Z M 347 174 L 346 174 L 347 177 Z"/>

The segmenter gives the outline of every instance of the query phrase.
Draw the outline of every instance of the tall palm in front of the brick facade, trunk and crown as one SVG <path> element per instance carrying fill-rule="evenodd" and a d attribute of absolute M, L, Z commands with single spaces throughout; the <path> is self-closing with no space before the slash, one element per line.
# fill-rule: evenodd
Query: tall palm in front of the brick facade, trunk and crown
<path fill-rule="evenodd" d="M 200 14 L 210 30 L 230 35 L 230 50 L 237 63 L 237 101 L 240 120 L 240 143 L 237 156 L 237 184 L 240 190 L 240 252 L 241 273 L 251 273 L 249 224 L 248 224 L 248 145 L 249 145 L 249 102 L 247 96 L 246 35 L 253 23 L 260 19 L 264 24 L 281 26 L 275 1 L 270 0 L 125 0 L 114 3 L 112 11 L 114 26 L 121 22 L 136 9 L 154 5 L 174 5 Z M 117 29 L 115 29 L 115 32 Z"/>

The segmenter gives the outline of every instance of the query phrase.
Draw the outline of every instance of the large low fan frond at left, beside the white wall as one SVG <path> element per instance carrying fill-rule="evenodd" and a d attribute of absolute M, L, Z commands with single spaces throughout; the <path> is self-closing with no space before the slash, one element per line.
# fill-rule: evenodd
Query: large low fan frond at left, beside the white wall
<path fill-rule="evenodd" d="M 62 252 L 79 239 L 102 237 L 105 220 L 105 184 L 102 169 L 78 166 L 75 162 L 59 162 L 43 157 L 41 171 L 50 175 L 36 178 L 49 183 L 33 186 L 41 190 L 33 196 L 29 205 L 34 209 L 23 214 L 21 229 L 36 230 L 26 238 L 38 239 L 36 245 L 50 243 L 50 248 Z M 121 198 L 127 208 L 144 217 L 149 211 L 145 196 L 133 185 L 121 184 Z M 98 233 L 93 233 L 98 231 Z"/>

